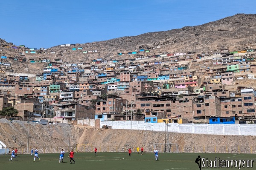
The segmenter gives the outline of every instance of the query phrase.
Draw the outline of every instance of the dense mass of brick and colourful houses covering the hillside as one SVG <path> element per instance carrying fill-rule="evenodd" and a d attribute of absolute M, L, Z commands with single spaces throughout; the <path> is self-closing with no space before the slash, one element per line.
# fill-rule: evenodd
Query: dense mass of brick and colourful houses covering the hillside
<path fill-rule="evenodd" d="M 98 52 L 79 48 L 70 51 Z M 38 52 L 38 49 L 27 51 Z M 45 65 L 33 81 L 26 75 L 1 78 L 0 86 L 15 88 L 16 95 L 12 98 L 3 95 L 3 101 L 8 102 L 0 102 L 0 107 L 13 106 L 23 117 L 102 121 L 136 120 L 141 114 L 146 122 L 172 117 L 189 122 L 207 122 L 209 117 L 219 116 L 255 118 L 253 88 L 225 89 L 235 84 L 236 75 L 256 72 L 254 49 L 235 52 L 221 49 L 198 55 L 186 52 L 145 55 L 150 52 L 144 49 L 130 53 L 127 55 L 133 58 L 95 58 L 84 63 L 46 58 L 22 60 Z M 2 56 L 3 66 L 15 59 Z M 205 66 L 196 67 L 198 63 Z"/>

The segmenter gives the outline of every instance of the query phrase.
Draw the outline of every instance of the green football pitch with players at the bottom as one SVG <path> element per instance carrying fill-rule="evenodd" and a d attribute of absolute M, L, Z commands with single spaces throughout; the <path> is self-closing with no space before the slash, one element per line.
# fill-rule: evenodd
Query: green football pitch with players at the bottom
<path fill-rule="evenodd" d="M 11 155 L 0 156 L 0 170 L 200 170 L 195 160 L 198 156 L 212 160 L 213 167 L 209 162 L 205 162 L 205 167 L 201 170 L 221 170 L 239 169 L 239 164 L 231 168 L 214 167 L 215 158 L 219 160 L 250 160 L 250 168 L 256 169 L 256 154 L 236 154 L 236 153 L 159 153 L 159 161 L 155 160 L 154 153 L 145 153 L 144 155 L 132 153 L 131 157 L 128 153 L 75 153 L 75 164 L 70 164 L 68 153 L 64 155 L 64 161 L 59 163 L 59 154 L 39 154 L 40 160 L 34 156 L 27 154 L 18 155 L 9 161 Z M 201 160 L 203 161 L 203 160 Z M 252 163 L 252 161 L 255 161 Z M 251 163 L 253 167 L 251 167 Z M 202 163 L 201 163 L 202 164 Z M 255 164 L 255 166 L 254 166 Z M 248 169 L 244 164 L 241 169 Z"/>

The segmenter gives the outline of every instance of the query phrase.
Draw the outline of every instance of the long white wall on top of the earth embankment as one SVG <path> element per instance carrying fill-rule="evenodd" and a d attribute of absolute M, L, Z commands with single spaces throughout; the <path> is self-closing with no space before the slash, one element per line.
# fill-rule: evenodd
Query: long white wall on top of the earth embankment
<path fill-rule="evenodd" d="M 145 123 L 144 121 L 102 121 L 102 125 L 112 129 L 151 130 L 165 132 L 165 123 Z M 256 124 L 177 124 L 168 126 L 169 132 L 198 133 L 211 135 L 256 135 Z"/>

